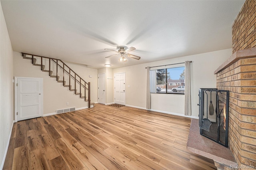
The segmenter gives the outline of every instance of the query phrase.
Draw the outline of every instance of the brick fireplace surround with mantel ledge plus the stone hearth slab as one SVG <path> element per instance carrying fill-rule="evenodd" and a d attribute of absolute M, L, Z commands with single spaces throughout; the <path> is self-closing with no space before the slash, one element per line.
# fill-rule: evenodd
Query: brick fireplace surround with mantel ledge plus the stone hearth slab
<path fill-rule="evenodd" d="M 216 71 L 217 89 L 229 90 L 228 148 L 200 136 L 191 121 L 187 149 L 211 158 L 218 169 L 256 168 L 256 47 L 238 50 Z M 236 164 L 237 163 L 237 164 Z M 237 166 L 236 166 L 237 165 Z"/>

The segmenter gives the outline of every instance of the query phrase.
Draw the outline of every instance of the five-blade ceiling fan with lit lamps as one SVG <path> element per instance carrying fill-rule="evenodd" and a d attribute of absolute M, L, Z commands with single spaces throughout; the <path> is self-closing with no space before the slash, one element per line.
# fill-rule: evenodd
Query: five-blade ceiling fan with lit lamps
<path fill-rule="evenodd" d="M 121 61 L 121 62 L 127 61 L 126 57 L 130 57 L 130 58 L 134 58 L 134 59 L 138 59 L 138 60 L 139 60 L 139 59 L 140 59 L 139 56 L 137 56 L 137 55 L 132 55 L 132 54 L 129 54 L 129 53 L 128 53 L 128 52 L 130 52 L 130 51 L 133 51 L 134 49 L 136 49 L 136 48 L 130 47 L 130 48 L 128 48 L 128 49 L 124 49 L 124 47 L 120 47 L 120 49 L 119 49 L 118 51 L 115 51 L 115 50 L 107 49 L 107 48 L 106 48 L 105 50 L 113 51 L 113 52 L 118 53 L 118 54 L 110 55 L 110 56 L 107 56 L 107 57 L 105 57 L 105 58 L 113 57 L 113 56 L 115 56 L 115 55 L 121 55 L 121 56 L 119 57 L 119 59 L 118 59 L 118 61 Z"/>

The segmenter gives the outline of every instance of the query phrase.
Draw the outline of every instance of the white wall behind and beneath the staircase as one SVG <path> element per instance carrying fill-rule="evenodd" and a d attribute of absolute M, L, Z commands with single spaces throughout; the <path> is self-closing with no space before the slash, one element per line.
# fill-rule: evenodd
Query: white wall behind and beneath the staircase
<path fill-rule="evenodd" d="M 91 102 L 98 101 L 98 71 L 90 69 L 84 65 L 65 62 L 85 81 L 91 83 Z M 14 76 L 15 77 L 42 77 L 44 81 L 44 107 L 43 114 L 56 113 L 56 109 L 66 109 L 76 107 L 76 109 L 88 107 L 88 102 L 80 99 L 79 95 L 74 95 L 74 91 L 69 91 L 68 87 L 63 87 L 62 83 L 57 83 L 56 78 L 50 77 L 48 72 L 42 72 L 41 68 L 34 66 L 30 59 L 23 59 L 21 54 L 14 52 Z M 89 77 L 91 75 L 91 77 Z M 67 78 L 68 79 L 68 78 Z M 73 89 L 74 87 L 72 87 Z M 69 105 L 66 105 L 66 103 Z"/>

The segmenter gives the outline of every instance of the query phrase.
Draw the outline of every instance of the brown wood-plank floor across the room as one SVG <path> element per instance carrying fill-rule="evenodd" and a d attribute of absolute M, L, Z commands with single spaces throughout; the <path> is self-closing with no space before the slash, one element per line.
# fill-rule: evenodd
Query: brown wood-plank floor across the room
<path fill-rule="evenodd" d="M 186 150 L 190 119 L 131 107 L 14 123 L 4 170 L 212 170 Z"/>

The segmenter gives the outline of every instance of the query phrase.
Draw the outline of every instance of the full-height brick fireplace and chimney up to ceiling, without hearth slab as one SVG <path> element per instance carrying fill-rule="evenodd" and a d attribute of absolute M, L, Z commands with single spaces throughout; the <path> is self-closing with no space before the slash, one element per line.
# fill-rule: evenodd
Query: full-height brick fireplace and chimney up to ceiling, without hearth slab
<path fill-rule="evenodd" d="M 232 56 L 214 73 L 230 91 L 229 148 L 238 163 L 256 168 L 256 0 L 246 0 L 232 26 Z"/>

